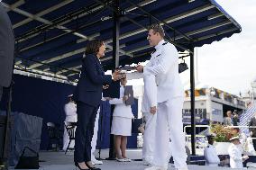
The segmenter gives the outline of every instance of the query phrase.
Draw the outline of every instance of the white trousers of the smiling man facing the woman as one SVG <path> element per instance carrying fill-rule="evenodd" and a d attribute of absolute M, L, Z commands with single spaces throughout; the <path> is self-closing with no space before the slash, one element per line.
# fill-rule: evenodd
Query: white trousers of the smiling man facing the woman
<path fill-rule="evenodd" d="M 169 148 L 176 168 L 187 169 L 185 134 L 183 132 L 182 108 L 184 97 L 176 97 L 158 104 L 154 166 L 168 168 Z M 169 146 L 169 139 L 171 140 Z"/>

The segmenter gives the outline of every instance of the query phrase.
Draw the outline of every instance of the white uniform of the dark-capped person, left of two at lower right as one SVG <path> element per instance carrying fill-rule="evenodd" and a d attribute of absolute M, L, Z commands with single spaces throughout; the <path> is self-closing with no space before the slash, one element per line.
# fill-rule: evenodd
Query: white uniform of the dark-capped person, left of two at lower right
<path fill-rule="evenodd" d="M 206 166 L 218 166 L 220 164 L 215 146 L 209 144 L 204 150 L 204 156 L 206 157 Z"/>

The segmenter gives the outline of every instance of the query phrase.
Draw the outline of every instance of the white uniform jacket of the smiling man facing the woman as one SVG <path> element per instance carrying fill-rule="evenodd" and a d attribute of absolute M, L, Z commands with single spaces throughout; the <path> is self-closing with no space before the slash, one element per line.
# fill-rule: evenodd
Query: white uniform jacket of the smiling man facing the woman
<path fill-rule="evenodd" d="M 151 55 L 151 62 L 143 68 L 156 76 L 157 101 L 183 97 L 184 89 L 178 76 L 178 50 L 169 42 L 161 40 Z"/>

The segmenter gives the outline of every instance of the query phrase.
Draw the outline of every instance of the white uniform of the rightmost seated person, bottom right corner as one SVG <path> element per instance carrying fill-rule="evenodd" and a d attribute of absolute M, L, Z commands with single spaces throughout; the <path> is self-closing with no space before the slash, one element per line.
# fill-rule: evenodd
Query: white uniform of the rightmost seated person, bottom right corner
<path fill-rule="evenodd" d="M 230 157 L 230 167 L 231 168 L 243 168 L 242 166 L 242 152 L 239 146 L 233 143 L 228 148 L 228 154 Z"/>

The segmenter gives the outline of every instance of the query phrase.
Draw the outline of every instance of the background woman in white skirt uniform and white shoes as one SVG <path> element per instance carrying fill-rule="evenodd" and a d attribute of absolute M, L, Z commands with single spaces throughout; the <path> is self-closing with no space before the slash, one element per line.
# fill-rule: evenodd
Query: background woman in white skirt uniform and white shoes
<path fill-rule="evenodd" d="M 133 112 L 131 105 L 125 104 L 128 99 L 128 96 L 124 95 L 126 83 L 126 78 L 121 79 L 120 98 L 114 98 L 109 101 L 110 104 L 114 104 L 111 134 L 114 135 L 114 150 L 116 160 L 119 162 L 131 161 L 126 157 L 126 145 L 127 137 L 132 135 Z"/>

